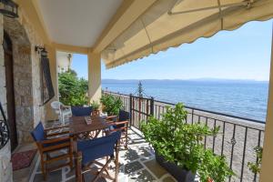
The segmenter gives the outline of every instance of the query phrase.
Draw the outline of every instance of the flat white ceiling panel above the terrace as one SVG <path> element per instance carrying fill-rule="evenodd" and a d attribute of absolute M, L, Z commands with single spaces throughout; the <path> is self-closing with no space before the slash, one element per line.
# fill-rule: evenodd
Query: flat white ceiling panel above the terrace
<path fill-rule="evenodd" d="M 38 0 L 46 31 L 57 44 L 92 47 L 122 0 Z"/>

